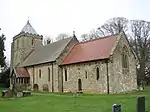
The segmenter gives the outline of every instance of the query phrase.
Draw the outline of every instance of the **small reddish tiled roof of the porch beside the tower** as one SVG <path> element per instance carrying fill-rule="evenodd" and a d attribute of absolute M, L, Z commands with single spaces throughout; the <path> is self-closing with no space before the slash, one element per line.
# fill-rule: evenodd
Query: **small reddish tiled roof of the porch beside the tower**
<path fill-rule="evenodd" d="M 29 77 L 29 73 L 25 68 L 15 68 L 15 73 L 17 77 Z"/>

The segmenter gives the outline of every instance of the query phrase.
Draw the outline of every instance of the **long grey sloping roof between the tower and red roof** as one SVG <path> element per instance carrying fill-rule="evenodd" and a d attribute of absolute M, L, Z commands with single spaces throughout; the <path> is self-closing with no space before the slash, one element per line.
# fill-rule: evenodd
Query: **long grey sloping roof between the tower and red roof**
<path fill-rule="evenodd" d="M 22 66 L 25 67 L 55 61 L 72 38 L 69 37 L 35 49 L 23 62 Z"/>

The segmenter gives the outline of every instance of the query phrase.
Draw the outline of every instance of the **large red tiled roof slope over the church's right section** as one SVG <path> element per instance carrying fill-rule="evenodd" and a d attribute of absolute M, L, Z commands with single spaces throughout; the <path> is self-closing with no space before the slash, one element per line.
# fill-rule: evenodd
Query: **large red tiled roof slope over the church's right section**
<path fill-rule="evenodd" d="M 118 35 L 76 44 L 64 58 L 63 64 L 108 59 Z"/>

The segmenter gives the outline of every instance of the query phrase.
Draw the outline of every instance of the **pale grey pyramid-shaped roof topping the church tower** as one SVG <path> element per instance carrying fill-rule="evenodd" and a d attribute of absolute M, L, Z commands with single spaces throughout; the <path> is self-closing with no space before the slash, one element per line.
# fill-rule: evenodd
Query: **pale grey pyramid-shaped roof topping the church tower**
<path fill-rule="evenodd" d="M 36 31 L 34 30 L 34 28 L 31 26 L 29 20 L 27 21 L 27 24 L 23 27 L 21 32 L 25 32 L 25 33 L 31 33 L 31 34 L 35 34 L 38 35 L 36 33 Z"/>

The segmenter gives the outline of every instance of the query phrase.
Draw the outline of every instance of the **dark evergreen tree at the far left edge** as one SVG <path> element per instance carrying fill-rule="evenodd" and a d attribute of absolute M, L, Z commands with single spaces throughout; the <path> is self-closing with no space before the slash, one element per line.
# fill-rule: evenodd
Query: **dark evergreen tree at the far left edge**
<path fill-rule="evenodd" d="M 1 29 L 0 29 L 1 30 Z M 6 40 L 6 37 L 4 34 L 0 35 L 0 65 L 2 67 L 6 66 L 6 62 L 5 62 L 5 55 L 4 55 L 4 51 L 5 51 L 5 44 L 4 41 Z"/>

